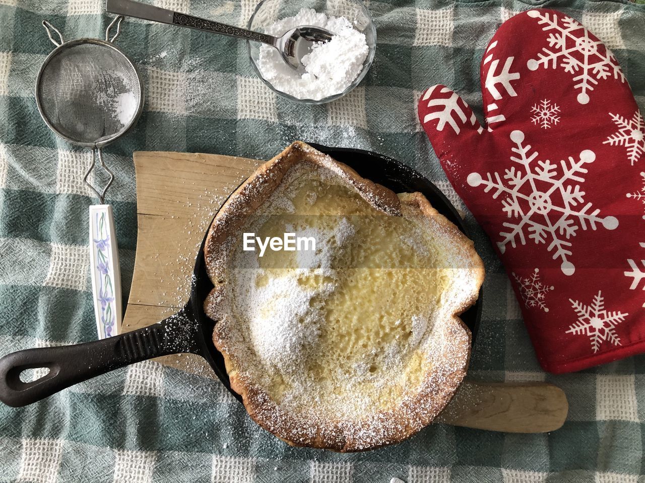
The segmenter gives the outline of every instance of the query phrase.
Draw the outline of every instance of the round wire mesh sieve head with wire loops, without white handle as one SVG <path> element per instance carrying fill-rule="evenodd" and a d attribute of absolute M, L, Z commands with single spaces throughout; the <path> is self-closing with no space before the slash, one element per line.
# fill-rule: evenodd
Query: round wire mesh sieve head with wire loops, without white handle
<path fill-rule="evenodd" d="M 114 180 L 103 160 L 101 148 L 130 129 L 143 108 L 143 84 L 134 64 L 112 42 L 119 35 L 123 17 L 117 17 L 106 30 L 105 40 L 77 39 L 65 42 L 61 33 L 43 22 L 55 50 L 48 55 L 36 79 L 36 102 L 46 124 L 61 138 L 92 148 L 92 164 L 84 182 L 101 203 Z M 117 32 L 110 39 L 110 28 Z M 52 37 L 58 34 L 60 41 Z M 98 151 L 101 167 L 110 179 L 96 189 L 88 176 Z"/>

